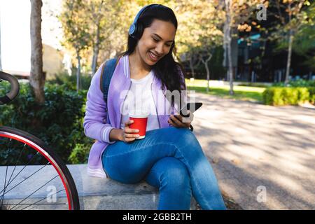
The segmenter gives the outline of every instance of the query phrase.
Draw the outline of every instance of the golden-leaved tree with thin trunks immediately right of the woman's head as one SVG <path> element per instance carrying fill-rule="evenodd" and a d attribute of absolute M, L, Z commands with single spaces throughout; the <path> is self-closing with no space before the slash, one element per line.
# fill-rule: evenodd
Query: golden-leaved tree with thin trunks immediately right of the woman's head
<path fill-rule="evenodd" d="M 195 69 L 195 59 L 204 64 L 209 91 L 209 61 L 216 46 L 222 44 L 221 31 L 223 13 L 217 9 L 216 1 L 178 1 L 175 5 L 179 18 L 178 52 L 185 55 L 190 69 Z M 180 58 L 180 57 L 179 57 Z M 198 64 L 198 63 L 197 63 Z"/>

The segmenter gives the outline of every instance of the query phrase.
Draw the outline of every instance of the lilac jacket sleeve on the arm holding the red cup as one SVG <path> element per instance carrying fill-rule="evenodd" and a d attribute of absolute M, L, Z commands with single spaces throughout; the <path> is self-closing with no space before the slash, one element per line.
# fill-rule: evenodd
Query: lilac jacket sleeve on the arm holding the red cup
<path fill-rule="evenodd" d="M 109 141 L 109 133 L 113 129 L 106 123 L 107 105 L 100 90 L 102 66 L 94 74 L 89 90 L 87 91 L 87 102 L 85 107 L 85 117 L 83 121 L 84 133 L 91 139 L 113 144 L 116 141 Z"/>

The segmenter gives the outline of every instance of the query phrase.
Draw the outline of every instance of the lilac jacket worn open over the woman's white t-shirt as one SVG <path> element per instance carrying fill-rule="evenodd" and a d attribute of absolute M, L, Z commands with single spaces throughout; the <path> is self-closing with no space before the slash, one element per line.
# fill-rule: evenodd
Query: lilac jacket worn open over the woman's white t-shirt
<path fill-rule="evenodd" d="M 90 88 L 87 92 L 83 127 L 87 137 L 97 140 L 90 149 L 90 155 L 87 162 L 87 174 L 90 176 L 106 178 L 107 175 L 104 172 L 101 157 L 102 153 L 106 150 L 106 147 L 109 146 L 109 144 L 116 142 L 109 141 L 109 132 L 111 132 L 113 128 L 120 128 L 120 107 L 123 104 L 127 90 L 130 89 L 131 85 L 129 56 L 125 55 L 120 57 L 113 73 L 113 77 L 111 78 L 107 105 L 104 102 L 103 92 L 100 90 L 102 66 L 100 66 L 94 74 Z M 183 77 L 183 73 L 181 73 L 181 76 Z M 155 101 L 160 128 L 169 127 L 170 124 L 167 122 L 169 115 L 174 114 L 174 111 L 178 111 L 179 108 L 177 104 L 175 104 L 174 107 L 171 107 L 169 101 L 165 97 L 165 91 L 162 92 L 159 90 L 162 90 L 162 83 L 156 76 L 154 76 L 151 92 Z M 165 113 L 165 109 L 171 108 L 172 111 Z M 106 120 L 106 111 L 109 113 L 111 124 Z"/>

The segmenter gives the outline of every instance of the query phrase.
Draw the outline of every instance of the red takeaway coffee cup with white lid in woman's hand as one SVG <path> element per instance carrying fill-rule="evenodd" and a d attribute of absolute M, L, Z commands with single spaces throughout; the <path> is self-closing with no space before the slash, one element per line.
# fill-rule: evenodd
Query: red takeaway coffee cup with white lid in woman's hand
<path fill-rule="evenodd" d="M 137 129 L 139 137 L 136 139 L 144 139 L 146 137 L 146 125 L 148 123 L 148 113 L 142 111 L 131 111 L 129 113 L 129 120 L 133 120 L 134 123 L 130 125 L 130 128 Z"/>

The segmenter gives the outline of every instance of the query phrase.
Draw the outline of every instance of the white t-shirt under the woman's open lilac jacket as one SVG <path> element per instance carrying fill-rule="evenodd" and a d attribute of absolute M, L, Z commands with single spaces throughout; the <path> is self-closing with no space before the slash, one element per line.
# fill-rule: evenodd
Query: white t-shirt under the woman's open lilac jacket
<path fill-rule="evenodd" d="M 158 116 L 156 114 L 155 104 L 151 92 L 151 84 L 153 82 L 153 71 L 151 70 L 147 76 L 141 79 L 133 79 L 130 91 L 123 104 L 122 120 L 120 128 L 125 127 L 125 123 L 129 120 L 129 111 L 137 110 L 149 113 L 146 130 L 155 130 L 160 128 Z"/>

